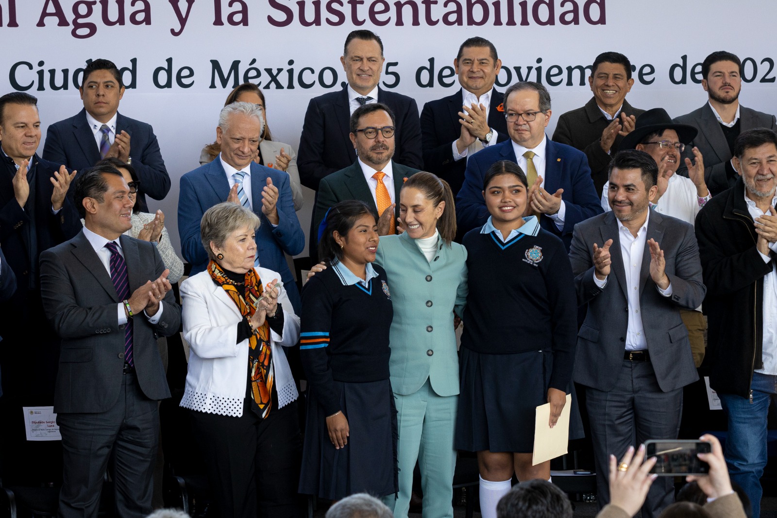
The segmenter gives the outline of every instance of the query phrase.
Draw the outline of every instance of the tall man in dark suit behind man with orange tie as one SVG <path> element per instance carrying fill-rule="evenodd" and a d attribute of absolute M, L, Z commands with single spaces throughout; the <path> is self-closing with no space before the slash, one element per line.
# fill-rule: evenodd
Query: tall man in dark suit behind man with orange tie
<path fill-rule="evenodd" d="M 369 30 L 354 30 L 345 40 L 340 58 L 348 80 L 340 92 L 314 97 L 308 104 L 297 154 L 302 185 L 314 191 L 326 175 L 356 160 L 349 135 L 350 116 L 357 107 L 383 103 L 394 112 L 396 162 L 421 168 L 421 128 L 412 97 L 378 86 L 383 68 L 383 42 Z"/>

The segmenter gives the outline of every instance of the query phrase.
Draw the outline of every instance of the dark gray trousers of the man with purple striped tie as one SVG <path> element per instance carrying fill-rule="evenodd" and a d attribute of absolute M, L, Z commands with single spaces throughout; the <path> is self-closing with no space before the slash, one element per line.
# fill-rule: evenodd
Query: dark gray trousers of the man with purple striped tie
<path fill-rule="evenodd" d="M 64 474 L 61 518 L 96 518 L 108 459 L 113 452 L 116 506 L 122 518 L 152 511 L 152 474 L 159 447 L 157 401 L 145 397 L 134 374 L 124 374 L 113 408 L 96 414 L 57 414 Z"/>

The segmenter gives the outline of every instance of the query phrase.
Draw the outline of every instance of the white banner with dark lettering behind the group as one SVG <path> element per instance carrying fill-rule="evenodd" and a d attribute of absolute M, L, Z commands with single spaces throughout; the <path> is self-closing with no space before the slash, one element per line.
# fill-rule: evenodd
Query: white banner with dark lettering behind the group
<path fill-rule="evenodd" d="M 633 106 L 673 117 L 706 102 L 706 55 L 731 51 L 744 64 L 742 104 L 777 113 L 774 19 L 770 0 L 0 0 L 0 93 L 37 96 L 45 138 L 48 124 L 81 110 L 87 59 L 123 68 L 120 111 L 159 137 L 172 189 L 149 202 L 165 211 L 177 247 L 179 177 L 214 141 L 227 93 L 259 83 L 274 139 L 296 149 L 308 100 L 345 80 L 350 30 L 382 37 L 381 85 L 413 96 L 419 110 L 458 89 L 459 44 L 486 37 L 503 62 L 500 89 L 520 79 L 548 86 L 552 135 L 560 114 L 591 98 L 587 76 L 603 51 L 632 61 Z M 298 215 L 307 232 L 305 191 Z"/>

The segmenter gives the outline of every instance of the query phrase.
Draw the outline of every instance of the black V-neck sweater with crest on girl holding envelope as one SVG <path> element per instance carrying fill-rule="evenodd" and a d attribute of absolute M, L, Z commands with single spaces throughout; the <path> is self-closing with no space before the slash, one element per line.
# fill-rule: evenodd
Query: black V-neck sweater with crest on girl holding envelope
<path fill-rule="evenodd" d="M 577 344 L 577 299 L 564 243 L 539 229 L 507 243 L 464 236 L 469 295 L 462 347 L 484 354 L 553 352 L 550 387 L 567 390 Z"/>

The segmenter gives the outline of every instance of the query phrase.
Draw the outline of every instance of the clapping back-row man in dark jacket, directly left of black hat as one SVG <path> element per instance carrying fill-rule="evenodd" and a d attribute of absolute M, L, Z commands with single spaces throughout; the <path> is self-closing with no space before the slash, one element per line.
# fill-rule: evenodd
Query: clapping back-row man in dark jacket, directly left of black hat
<path fill-rule="evenodd" d="M 553 140 L 580 149 L 588 159 L 594 188 L 599 193 L 607 181 L 611 154 L 634 129 L 636 117 L 645 110 L 625 99 L 631 91 L 631 61 L 618 52 L 603 52 L 594 59 L 588 86 L 594 96 L 584 107 L 559 117 Z"/>

